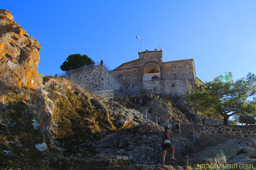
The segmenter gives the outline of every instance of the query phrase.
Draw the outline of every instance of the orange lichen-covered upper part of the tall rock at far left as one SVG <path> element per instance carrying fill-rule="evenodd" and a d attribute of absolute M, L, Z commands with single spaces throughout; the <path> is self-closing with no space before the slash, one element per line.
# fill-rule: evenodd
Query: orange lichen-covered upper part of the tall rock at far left
<path fill-rule="evenodd" d="M 8 10 L 0 10 L 0 35 L 0 101 L 28 101 L 30 89 L 40 87 L 37 66 L 42 47 Z"/>

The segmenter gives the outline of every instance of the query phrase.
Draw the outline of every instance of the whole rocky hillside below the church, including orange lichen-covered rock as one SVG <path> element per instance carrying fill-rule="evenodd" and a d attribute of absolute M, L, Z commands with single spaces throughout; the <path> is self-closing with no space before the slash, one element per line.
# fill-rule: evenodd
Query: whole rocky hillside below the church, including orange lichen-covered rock
<path fill-rule="evenodd" d="M 171 138 L 178 159 L 170 161 L 168 150 L 167 164 L 159 164 L 163 126 L 169 123 L 175 132 L 178 122 L 202 119 L 184 107 L 182 97 L 142 92 L 109 101 L 66 79 L 40 75 L 41 46 L 12 18 L 0 10 L 0 168 L 182 170 L 206 163 L 256 164 L 254 138 L 216 134 L 193 142 L 176 133 Z"/>

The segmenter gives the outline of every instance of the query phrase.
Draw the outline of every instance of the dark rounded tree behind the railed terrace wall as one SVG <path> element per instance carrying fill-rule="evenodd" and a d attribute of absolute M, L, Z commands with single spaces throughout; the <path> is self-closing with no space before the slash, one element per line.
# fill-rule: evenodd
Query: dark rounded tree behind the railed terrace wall
<path fill-rule="evenodd" d="M 84 65 L 90 65 L 95 63 L 90 57 L 83 54 L 70 54 L 67 59 L 62 63 L 60 69 L 62 71 L 69 71 L 70 69 L 77 69 Z"/>

